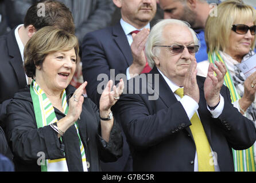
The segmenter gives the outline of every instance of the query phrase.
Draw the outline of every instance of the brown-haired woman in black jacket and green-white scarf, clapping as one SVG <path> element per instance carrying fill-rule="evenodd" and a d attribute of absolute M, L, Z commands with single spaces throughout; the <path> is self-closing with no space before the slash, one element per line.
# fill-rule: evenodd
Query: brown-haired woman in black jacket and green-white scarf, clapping
<path fill-rule="evenodd" d="M 107 83 L 99 110 L 83 97 L 87 82 L 75 89 L 69 82 L 76 69 L 75 35 L 44 27 L 24 50 L 31 85 L 15 94 L 7 107 L 7 140 L 16 170 L 99 171 L 99 160 L 122 155 L 122 136 L 111 115 L 123 90 Z"/>

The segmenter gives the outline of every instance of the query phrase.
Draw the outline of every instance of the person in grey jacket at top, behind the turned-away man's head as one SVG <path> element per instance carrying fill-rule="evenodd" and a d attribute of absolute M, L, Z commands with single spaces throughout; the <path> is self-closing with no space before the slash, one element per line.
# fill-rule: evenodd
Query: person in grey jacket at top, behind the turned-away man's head
<path fill-rule="evenodd" d="M 1 4 L 0 0 L 0 4 Z M 11 29 L 24 21 L 26 11 L 41 0 L 5 0 L 6 16 Z M 112 0 L 59 0 L 72 12 L 75 35 L 82 43 L 85 34 L 107 27 L 111 22 L 115 5 Z"/>

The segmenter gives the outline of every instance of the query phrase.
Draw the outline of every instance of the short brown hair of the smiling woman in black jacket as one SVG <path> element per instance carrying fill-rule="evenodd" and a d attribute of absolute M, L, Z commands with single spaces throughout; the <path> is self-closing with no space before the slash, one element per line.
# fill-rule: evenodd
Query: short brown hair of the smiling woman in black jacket
<path fill-rule="evenodd" d="M 36 76 L 36 66 L 42 66 L 46 55 L 55 51 L 75 49 L 79 54 L 79 43 L 75 35 L 63 29 L 46 26 L 38 30 L 26 43 L 24 49 L 24 67 L 28 77 Z"/>

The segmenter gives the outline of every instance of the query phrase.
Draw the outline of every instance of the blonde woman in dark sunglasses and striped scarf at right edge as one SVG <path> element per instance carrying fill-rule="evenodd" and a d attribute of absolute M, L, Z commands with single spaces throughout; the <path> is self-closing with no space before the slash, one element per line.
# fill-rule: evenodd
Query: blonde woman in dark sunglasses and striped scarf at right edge
<path fill-rule="evenodd" d="M 246 78 L 238 65 L 254 54 L 256 10 L 242 1 L 224 1 L 218 6 L 218 16 L 207 19 L 205 41 L 208 61 L 197 64 L 197 74 L 206 77 L 209 63 L 225 63 L 224 85 L 228 87 L 234 106 L 256 122 L 256 72 Z M 255 148 L 256 150 L 256 148 Z M 236 171 L 255 171 L 254 148 L 234 151 Z"/>

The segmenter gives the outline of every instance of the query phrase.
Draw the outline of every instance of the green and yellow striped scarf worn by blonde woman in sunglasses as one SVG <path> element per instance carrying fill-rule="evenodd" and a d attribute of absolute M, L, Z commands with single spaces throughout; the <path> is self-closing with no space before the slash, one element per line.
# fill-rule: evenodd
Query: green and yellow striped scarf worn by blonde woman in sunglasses
<path fill-rule="evenodd" d="M 220 61 L 225 63 L 227 67 L 227 73 L 224 77 L 224 85 L 230 90 L 232 103 L 239 100 L 243 96 L 245 82 L 245 75 L 238 68 L 239 62 L 232 59 L 229 55 L 224 54 L 222 51 L 215 51 L 215 53 L 208 53 L 210 63 L 214 61 Z M 243 58 L 246 59 L 247 55 Z M 255 101 L 249 106 L 245 116 L 250 120 L 256 121 L 255 115 Z M 249 149 L 245 150 L 234 150 L 232 149 L 234 157 L 235 172 L 255 172 L 255 161 L 254 161 L 254 145 Z"/>

